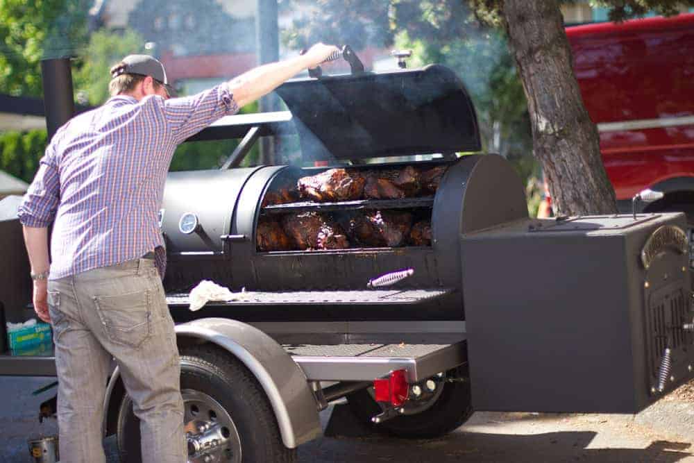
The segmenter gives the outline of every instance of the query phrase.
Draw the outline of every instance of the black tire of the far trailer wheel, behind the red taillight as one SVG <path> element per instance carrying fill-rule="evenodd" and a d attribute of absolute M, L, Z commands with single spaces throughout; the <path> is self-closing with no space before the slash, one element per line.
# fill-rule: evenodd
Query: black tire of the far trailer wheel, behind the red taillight
<path fill-rule="evenodd" d="M 373 424 L 371 418 L 382 412 L 373 400 L 369 389 L 361 389 L 347 396 L 350 410 L 359 421 L 366 423 L 375 432 L 405 439 L 431 439 L 448 434 L 462 426 L 473 414 L 470 397 L 470 380 L 466 368 L 447 372 L 452 382 L 443 385 L 441 394 L 434 403 L 421 412 L 396 416 Z"/>

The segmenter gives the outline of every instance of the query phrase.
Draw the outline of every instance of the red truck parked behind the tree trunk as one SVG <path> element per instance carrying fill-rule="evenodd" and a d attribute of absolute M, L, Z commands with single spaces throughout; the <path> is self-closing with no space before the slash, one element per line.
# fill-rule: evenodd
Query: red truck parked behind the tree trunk
<path fill-rule="evenodd" d="M 650 188 L 645 212 L 694 223 L 694 14 L 566 28 L 583 101 L 622 212 Z"/>

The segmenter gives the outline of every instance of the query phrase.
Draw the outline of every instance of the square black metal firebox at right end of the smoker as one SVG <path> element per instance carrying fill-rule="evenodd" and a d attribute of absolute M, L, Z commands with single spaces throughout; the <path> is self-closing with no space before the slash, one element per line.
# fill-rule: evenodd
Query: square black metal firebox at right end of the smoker
<path fill-rule="evenodd" d="M 661 396 L 651 389 L 665 344 L 675 378 L 665 392 L 691 378 L 687 256 L 663 249 L 648 271 L 639 258 L 684 215 L 641 219 L 582 217 L 563 231 L 528 219 L 463 237 L 476 410 L 638 412 Z"/>

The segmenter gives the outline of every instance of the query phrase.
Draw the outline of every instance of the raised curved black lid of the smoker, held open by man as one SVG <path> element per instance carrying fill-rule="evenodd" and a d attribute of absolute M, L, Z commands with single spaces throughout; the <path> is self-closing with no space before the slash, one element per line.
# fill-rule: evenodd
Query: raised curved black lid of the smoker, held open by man
<path fill-rule="evenodd" d="M 304 160 L 481 149 L 470 96 L 441 65 L 300 78 L 276 92 L 293 115 Z"/>

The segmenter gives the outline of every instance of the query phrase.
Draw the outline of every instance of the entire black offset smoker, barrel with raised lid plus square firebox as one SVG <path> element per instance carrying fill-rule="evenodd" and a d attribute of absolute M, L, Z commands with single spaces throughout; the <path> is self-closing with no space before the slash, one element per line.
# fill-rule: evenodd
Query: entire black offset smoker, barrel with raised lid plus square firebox
<path fill-rule="evenodd" d="M 384 322 L 419 321 L 424 332 L 426 323 L 450 322 L 466 331 L 459 339 L 469 344 L 477 410 L 636 412 L 691 377 L 684 216 L 529 219 L 523 185 L 505 160 L 454 154 L 479 151 L 480 139 L 468 94 L 445 67 L 298 79 L 278 94 L 304 161 L 366 170 L 379 167 L 365 165 L 369 158 L 440 153 L 439 160 L 414 162 L 447 166 L 439 189 L 398 200 L 262 207 L 264 195 L 287 178 L 328 167 L 172 173 L 162 209 L 172 306 L 185 305 L 185 292 L 209 278 L 253 292 L 250 301 L 212 304 L 209 316 L 366 321 L 374 333 Z M 266 125 L 277 124 L 273 118 Z M 246 140 L 261 130 L 257 124 Z M 369 208 L 430 217 L 431 246 L 257 249 L 264 215 Z M 196 214 L 196 233 L 178 230 L 186 212 Z M 414 275 L 393 287 L 366 289 L 370 278 L 406 268 Z M 437 344 L 439 335 L 423 341 Z M 310 334 L 296 339 L 319 344 Z"/>

